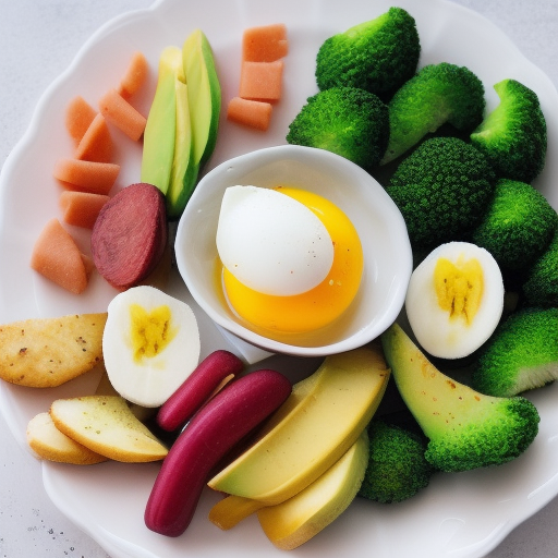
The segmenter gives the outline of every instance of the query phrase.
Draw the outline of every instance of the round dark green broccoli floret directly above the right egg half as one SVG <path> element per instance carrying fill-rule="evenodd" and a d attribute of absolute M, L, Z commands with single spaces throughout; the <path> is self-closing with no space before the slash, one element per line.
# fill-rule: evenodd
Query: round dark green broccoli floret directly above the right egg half
<path fill-rule="evenodd" d="M 457 137 L 432 137 L 401 161 L 386 190 L 407 223 L 413 250 L 462 240 L 494 194 L 486 158 Z"/>

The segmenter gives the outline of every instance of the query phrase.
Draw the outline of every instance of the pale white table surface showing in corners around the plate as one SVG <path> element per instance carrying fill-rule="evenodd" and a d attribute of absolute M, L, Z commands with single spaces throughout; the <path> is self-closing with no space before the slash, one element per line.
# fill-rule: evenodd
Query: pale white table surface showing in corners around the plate
<path fill-rule="evenodd" d="M 558 86 L 558 0 L 454 1 L 498 25 Z M 0 0 L 0 165 L 25 132 L 43 92 L 66 69 L 85 39 L 113 16 L 150 3 Z M 557 525 L 555 499 L 488 557 L 558 556 Z M 0 558 L 48 556 L 107 558 L 52 505 L 43 487 L 39 462 L 15 442 L 0 418 Z"/>

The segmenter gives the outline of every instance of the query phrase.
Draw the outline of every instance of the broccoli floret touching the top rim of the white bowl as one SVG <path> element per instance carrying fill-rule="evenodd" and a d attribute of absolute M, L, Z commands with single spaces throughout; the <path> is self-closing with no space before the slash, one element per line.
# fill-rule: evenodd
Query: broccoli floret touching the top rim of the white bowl
<path fill-rule="evenodd" d="M 369 170 L 384 155 L 388 136 L 388 109 L 376 95 L 332 87 L 307 99 L 289 126 L 287 142 L 327 149 Z"/>

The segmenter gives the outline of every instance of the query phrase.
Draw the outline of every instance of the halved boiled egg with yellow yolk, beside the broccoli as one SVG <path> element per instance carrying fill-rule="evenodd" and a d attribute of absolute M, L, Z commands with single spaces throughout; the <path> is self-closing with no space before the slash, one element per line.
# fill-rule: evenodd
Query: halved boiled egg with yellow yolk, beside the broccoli
<path fill-rule="evenodd" d="M 435 248 L 411 276 L 409 323 L 425 351 L 460 359 L 494 332 L 504 310 L 504 282 L 486 250 L 468 242 Z"/>

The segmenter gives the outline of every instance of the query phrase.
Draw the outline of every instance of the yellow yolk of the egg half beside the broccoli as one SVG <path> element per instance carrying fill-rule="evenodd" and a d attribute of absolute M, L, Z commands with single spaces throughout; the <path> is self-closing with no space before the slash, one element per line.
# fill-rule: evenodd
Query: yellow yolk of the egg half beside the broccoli
<path fill-rule="evenodd" d="M 458 259 L 456 264 L 440 257 L 434 269 L 438 304 L 451 319 L 471 325 L 483 296 L 483 267 L 477 259 Z"/>

